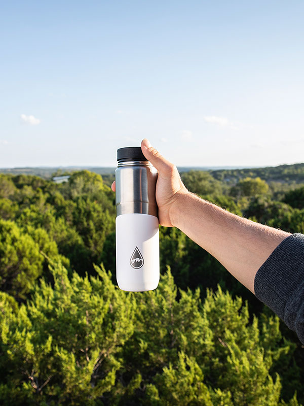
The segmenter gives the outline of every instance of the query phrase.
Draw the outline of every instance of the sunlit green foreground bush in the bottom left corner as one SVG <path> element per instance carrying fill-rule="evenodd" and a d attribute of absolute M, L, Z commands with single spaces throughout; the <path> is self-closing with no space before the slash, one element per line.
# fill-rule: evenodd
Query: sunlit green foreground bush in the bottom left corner
<path fill-rule="evenodd" d="M 17 310 L 3 296 L 3 404 L 95 404 L 114 387 L 119 353 L 133 333 L 134 299 L 96 270 L 102 281 L 76 273 L 69 280 L 54 266 L 54 288 L 42 280 Z"/>

